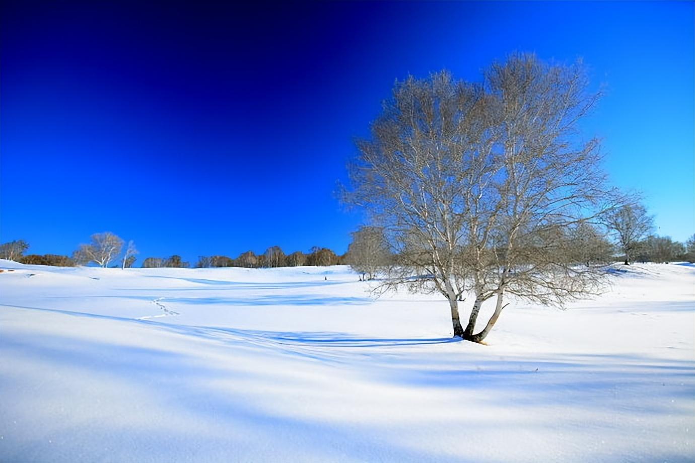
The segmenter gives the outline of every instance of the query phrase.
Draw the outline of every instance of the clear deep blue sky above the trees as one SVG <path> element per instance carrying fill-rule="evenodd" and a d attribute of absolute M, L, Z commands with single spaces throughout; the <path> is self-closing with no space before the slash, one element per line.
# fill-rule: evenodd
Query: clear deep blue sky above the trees
<path fill-rule="evenodd" d="M 695 231 L 691 1 L 227 3 L 2 3 L 1 242 L 342 253 L 360 217 L 336 181 L 394 80 L 511 51 L 582 57 L 614 183 L 660 235 Z"/>

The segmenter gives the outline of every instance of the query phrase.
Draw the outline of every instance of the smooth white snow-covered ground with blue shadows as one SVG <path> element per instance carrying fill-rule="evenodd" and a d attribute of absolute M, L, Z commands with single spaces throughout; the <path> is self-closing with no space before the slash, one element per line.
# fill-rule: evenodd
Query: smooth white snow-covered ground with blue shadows
<path fill-rule="evenodd" d="M 687 264 L 488 346 L 347 267 L 0 269 L 3 462 L 695 461 Z"/>

